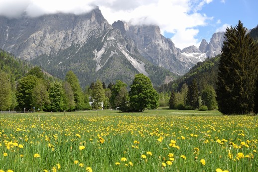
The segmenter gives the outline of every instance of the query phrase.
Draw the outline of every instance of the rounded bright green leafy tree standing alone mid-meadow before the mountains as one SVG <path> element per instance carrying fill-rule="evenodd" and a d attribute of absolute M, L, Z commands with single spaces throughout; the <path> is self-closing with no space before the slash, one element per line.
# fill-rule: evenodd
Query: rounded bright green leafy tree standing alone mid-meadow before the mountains
<path fill-rule="evenodd" d="M 158 107 L 158 94 L 150 79 L 143 74 L 136 74 L 129 91 L 130 107 L 135 112 Z"/>

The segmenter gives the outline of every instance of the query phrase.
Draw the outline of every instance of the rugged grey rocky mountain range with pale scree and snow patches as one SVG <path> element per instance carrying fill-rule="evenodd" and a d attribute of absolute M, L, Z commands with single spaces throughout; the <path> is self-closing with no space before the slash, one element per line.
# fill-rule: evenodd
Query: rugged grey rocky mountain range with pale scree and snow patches
<path fill-rule="evenodd" d="M 131 84 L 136 73 L 156 86 L 187 73 L 196 63 L 221 52 L 224 32 L 214 33 L 197 48 L 184 49 L 160 34 L 156 25 L 112 25 L 96 7 L 89 13 L 39 17 L 0 16 L 0 49 L 28 60 L 63 79 L 72 70 L 82 87 L 97 79 Z"/>

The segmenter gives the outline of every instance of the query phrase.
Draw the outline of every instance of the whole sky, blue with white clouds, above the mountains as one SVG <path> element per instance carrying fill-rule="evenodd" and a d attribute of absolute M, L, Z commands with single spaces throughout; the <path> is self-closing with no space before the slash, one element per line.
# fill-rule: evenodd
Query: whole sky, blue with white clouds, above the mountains
<path fill-rule="evenodd" d="M 248 29 L 258 25 L 258 0 L 0 0 L 0 15 L 36 17 L 56 12 L 81 14 L 99 6 L 110 24 L 155 24 L 176 47 L 199 46 L 212 34 L 241 20 Z"/>

